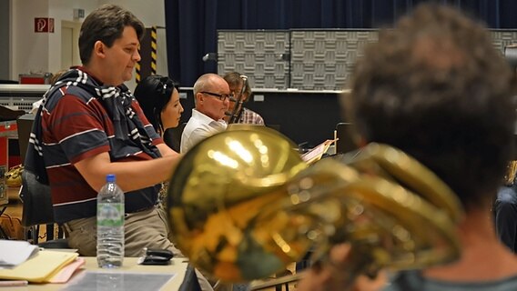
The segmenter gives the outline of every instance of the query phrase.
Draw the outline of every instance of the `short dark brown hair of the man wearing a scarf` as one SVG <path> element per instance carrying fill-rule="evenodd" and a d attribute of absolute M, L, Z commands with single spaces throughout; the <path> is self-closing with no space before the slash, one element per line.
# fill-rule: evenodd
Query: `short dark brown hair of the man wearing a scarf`
<path fill-rule="evenodd" d="M 90 61 L 97 40 L 111 47 L 117 38 L 122 36 L 126 26 L 135 28 L 138 39 L 142 39 L 145 32 L 144 24 L 137 16 L 120 6 L 102 5 L 87 15 L 79 35 L 79 55 L 83 65 Z"/>

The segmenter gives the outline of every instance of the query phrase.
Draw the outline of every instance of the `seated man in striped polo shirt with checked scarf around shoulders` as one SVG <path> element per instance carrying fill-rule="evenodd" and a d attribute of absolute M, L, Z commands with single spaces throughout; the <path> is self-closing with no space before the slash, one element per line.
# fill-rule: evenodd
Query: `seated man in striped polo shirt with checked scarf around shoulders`
<path fill-rule="evenodd" d="M 117 176 L 125 193 L 125 256 L 141 256 L 144 247 L 178 253 L 157 198 L 180 156 L 124 85 L 140 60 L 144 32 L 118 5 L 87 15 L 79 35 L 83 65 L 51 86 L 35 116 L 25 166 L 50 186 L 56 223 L 81 256 L 96 256 L 96 195 L 107 174 Z M 198 280 L 212 290 L 204 277 Z"/>

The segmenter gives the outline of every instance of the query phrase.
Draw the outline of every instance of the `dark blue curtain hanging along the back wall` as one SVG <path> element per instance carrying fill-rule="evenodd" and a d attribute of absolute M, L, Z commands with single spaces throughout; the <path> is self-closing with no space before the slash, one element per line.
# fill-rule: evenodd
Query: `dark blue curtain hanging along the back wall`
<path fill-rule="evenodd" d="M 218 29 L 380 28 L 424 0 L 165 0 L 168 73 L 183 86 L 217 72 Z M 459 7 L 491 28 L 516 28 L 515 0 L 434 1 Z"/>

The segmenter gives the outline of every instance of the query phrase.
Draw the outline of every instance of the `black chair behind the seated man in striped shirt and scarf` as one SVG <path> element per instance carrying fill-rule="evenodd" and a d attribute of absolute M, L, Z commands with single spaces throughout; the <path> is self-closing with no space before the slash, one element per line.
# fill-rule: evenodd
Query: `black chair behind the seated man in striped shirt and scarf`
<path fill-rule="evenodd" d="M 25 152 L 28 146 L 29 135 L 34 123 L 34 115 L 22 115 L 16 120 L 18 125 L 18 144 L 20 155 L 25 160 Z M 50 186 L 39 183 L 35 175 L 27 170 L 22 172 L 22 188 L 20 190 L 22 200 L 22 226 L 27 228 L 25 238 L 32 235 L 33 243 L 46 248 L 68 248 L 65 238 L 54 239 L 54 209 Z M 38 235 L 41 225 L 46 225 L 46 242 L 39 243 Z M 61 227 L 57 237 L 64 237 Z"/>

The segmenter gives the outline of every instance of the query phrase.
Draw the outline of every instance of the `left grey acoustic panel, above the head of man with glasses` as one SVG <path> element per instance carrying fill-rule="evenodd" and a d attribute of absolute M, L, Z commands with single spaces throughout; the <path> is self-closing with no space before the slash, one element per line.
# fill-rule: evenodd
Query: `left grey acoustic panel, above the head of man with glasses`
<path fill-rule="evenodd" d="M 218 74 L 248 75 L 255 88 L 289 87 L 289 31 L 218 31 Z"/>

